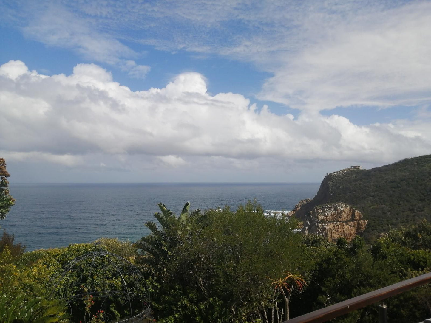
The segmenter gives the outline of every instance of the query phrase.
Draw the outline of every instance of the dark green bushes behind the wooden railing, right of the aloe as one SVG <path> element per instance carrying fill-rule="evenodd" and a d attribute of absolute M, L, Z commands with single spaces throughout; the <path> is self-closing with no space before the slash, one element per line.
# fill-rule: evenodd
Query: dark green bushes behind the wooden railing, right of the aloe
<path fill-rule="evenodd" d="M 426 229 L 425 229 L 426 227 Z M 356 237 L 350 243 L 339 239 L 336 244 L 322 237 L 304 236 L 307 255 L 314 259 L 309 284 L 292 300 L 294 316 L 336 304 L 375 289 L 431 271 L 428 246 L 420 247 L 417 239 L 429 239 L 431 224 L 422 222 L 407 229 L 391 230 L 378 238 L 371 248 Z M 410 240 L 407 237 L 415 236 Z M 388 320 L 419 322 L 431 316 L 431 286 L 422 286 L 389 298 Z M 344 315 L 333 322 L 377 322 L 377 305 Z"/>

